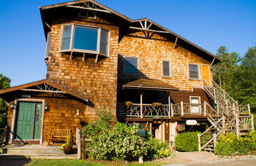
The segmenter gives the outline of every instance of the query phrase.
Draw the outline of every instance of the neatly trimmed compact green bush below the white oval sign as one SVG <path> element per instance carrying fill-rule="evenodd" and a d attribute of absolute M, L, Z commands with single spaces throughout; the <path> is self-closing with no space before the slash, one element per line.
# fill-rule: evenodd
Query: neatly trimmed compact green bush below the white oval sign
<path fill-rule="evenodd" d="M 198 136 L 200 132 L 184 132 L 175 137 L 175 148 L 178 151 L 198 151 Z"/>

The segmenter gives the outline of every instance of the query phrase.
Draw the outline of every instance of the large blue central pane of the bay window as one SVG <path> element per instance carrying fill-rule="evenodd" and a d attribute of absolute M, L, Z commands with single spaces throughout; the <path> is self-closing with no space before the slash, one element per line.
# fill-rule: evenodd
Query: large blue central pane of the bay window
<path fill-rule="evenodd" d="M 97 51 L 98 29 L 75 26 L 74 49 Z"/>

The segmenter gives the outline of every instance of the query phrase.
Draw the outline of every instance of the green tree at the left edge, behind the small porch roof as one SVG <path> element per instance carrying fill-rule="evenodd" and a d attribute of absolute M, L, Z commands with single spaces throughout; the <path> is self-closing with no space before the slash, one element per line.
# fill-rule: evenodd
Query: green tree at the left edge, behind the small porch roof
<path fill-rule="evenodd" d="M 0 89 L 10 87 L 11 79 L 2 73 L 0 73 Z M 8 106 L 4 103 L 4 100 L 0 98 L 0 128 L 4 127 L 7 121 Z"/>

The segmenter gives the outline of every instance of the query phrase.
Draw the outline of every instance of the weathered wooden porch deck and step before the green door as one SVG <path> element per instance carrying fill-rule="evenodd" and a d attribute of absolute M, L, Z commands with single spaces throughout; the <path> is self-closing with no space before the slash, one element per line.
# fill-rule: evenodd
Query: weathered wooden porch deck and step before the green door
<path fill-rule="evenodd" d="M 73 146 L 70 155 L 65 155 L 60 147 L 61 145 L 4 145 L 0 146 L 0 160 L 77 159 L 76 146 Z"/>

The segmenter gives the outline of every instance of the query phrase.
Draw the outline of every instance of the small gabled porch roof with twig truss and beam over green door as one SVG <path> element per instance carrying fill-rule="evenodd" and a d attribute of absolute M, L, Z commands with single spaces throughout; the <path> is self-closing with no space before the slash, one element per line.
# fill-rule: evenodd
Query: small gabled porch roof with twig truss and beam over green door
<path fill-rule="evenodd" d="M 38 85 L 44 85 L 44 90 L 40 87 L 38 87 Z M 47 87 L 47 85 L 49 85 L 49 87 Z M 34 86 L 37 86 L 38 88 L 37 89 L 29 89 L 29 87 L 34 87 Z M 17 91 L 17 90 L 23 90 L 23 91 L 34 91 L 34 92 L 51 92 L 51 93 L 64 93 L 64 94 L 70 94 L 72 96 L 75 96 L 81 100 L 84 100 L 86 102 L 88 102 L 89 98 L 86 97 L 86 96 L 83 96 L 81 94 L 78 94 L 76 92 L 73 92 L 67 88 L 64 88 L 64 87 L 61 87 L 60 85 L 57 85 L 47 79 L 42 79 L 40 81 L 36 81 L 36 82 L 31 82 L 31 83 L 28 83 L 28 84 L 23 84 L 23 85 L 19 85 L 19 86 L 16 86 L 16 87 L 10 87 L 10 88 L 7 88 L 7 89 L 3 89 L 3 90 L 0 90 L 0 95 L 1 94 L 7 94 L 7 93 L 10 93 L 10 92 L 13 92 L 13 91 Z"/>

